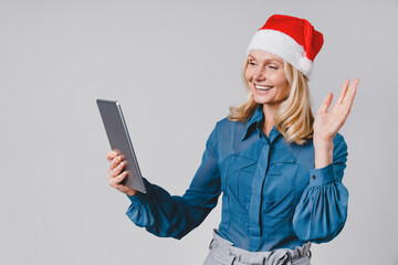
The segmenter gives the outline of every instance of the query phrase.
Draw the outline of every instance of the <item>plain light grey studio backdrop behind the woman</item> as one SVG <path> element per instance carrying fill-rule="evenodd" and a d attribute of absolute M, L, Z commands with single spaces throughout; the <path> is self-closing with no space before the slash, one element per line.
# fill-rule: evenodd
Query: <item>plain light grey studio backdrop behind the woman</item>
<path fill-rule="evenodd" d="M 324 33 L 314 112 L 362 80 L 341 131 L 348 220 L 313 244 L 313 264 L 398 264 L 397 0 L 1 0 L 0 263 L 202 264 L 220 204 L 180 241 L 134 225 L 106 181 L 95 99 L 121 102 L 143 174 L 180 195 L 216 123 L 245 100 L 245 49 L 273 13 Z"/>

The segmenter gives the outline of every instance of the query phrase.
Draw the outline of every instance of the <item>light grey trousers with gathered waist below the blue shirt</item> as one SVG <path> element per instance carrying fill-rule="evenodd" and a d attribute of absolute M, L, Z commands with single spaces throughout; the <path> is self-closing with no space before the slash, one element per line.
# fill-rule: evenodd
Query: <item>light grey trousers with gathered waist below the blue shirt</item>
<path fill-rule="evenodd" d="M 205 265 L 310 265 L 311 243 L 295 250 L 279 248 L 271 252 L 248 252 L 213 232 L 210 253 Z"/>

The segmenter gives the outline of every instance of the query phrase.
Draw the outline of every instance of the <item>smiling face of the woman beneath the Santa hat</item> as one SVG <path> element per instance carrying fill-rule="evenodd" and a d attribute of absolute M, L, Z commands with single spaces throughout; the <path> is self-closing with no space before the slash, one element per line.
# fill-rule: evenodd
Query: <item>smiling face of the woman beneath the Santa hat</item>
<path fill-rule="evenodd" d="M 251 51 L 244 77 L 258 104 L 277 107 L 290 93 L 283 60 L 263 51 Z"/>

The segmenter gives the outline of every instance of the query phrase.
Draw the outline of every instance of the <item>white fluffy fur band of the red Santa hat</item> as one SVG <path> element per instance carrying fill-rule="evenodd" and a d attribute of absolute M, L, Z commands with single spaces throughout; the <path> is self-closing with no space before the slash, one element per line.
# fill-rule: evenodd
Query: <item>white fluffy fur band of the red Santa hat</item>
<path fill-rule="evenodd" d="M 306 57 L 304 47 L 290 35 L 274 30 L 259 30 L 252 38 L 247 53 L 254 50 L 272 53 L 310 77 L 313 62 Z"/>

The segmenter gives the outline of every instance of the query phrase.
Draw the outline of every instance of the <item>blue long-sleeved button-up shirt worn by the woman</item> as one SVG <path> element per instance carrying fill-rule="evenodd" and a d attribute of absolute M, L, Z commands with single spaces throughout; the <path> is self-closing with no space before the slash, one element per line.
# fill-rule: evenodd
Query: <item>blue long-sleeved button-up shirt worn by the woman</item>
<path fill-rule="evenodd" d="M 333 140 L 333 163 L 315 169 L 312 140 L 287 145 L 275 127 L 265 137 L 262 120 L 259 106 L 245 125 L 219 121 L 186 193 L 172 197 L 145 180 L 148 192 L 128 197 L 129 219 L 155 235 L 181 239 L 222 193 L 219 235 L 238 247 L 272 251 L 333 240 L 347 216 L 343 136 Z"/>

